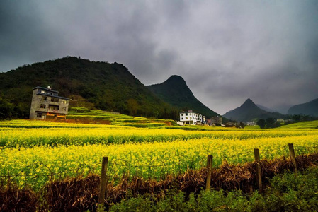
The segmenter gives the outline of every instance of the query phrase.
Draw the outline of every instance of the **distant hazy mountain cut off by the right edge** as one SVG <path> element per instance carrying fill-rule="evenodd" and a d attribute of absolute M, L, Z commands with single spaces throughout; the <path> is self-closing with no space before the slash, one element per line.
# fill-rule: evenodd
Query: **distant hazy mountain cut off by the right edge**
<path fill-rule="evenodd" d="M 300 105 L 294 105 L 290 107 L 288 114 L 305 114 L 318 117 L 318 99 Z"/>

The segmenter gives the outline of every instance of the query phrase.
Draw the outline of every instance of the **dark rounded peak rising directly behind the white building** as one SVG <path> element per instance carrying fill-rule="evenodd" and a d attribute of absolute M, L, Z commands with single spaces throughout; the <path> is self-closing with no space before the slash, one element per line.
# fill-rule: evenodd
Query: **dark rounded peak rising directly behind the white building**
<path fill-rule="evenodd" d="M 160 84 L 148 86 L 158 98 L 179 110 L 193 110 L 205 117 L 220 116 L 200 102 L 186 85 L 181 76 L 173 75 Z"/>

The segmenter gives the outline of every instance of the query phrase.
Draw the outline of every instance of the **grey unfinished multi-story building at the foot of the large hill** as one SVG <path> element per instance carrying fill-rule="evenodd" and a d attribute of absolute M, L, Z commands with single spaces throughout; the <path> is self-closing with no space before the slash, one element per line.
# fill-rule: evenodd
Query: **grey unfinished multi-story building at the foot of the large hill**
<path fill-rule="evenodd" d="M 58 94 L 50 86 L 33 88 L 30 119 L 65 119 L 69 110 L 69 98 Z"/>

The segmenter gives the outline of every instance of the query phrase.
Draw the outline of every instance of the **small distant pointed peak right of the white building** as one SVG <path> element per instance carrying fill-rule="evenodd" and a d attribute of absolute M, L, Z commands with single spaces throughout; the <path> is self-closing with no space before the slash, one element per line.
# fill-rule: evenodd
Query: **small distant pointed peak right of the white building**
<path fill-rule="evenodd" d="M 237 120 L 239 122 L 251 122 L 254 119 L 284 118 L 283 114 L 278 112 L 268 112 L 257 107 L 251 99 L 247 99 L 243 105 L 231 110 L 223 115 L 227 119 Z"/>

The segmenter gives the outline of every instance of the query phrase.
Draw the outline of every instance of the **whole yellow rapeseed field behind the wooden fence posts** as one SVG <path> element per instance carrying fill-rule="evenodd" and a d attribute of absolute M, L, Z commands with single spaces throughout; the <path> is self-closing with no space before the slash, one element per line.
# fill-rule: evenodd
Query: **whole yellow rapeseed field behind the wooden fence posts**
<path fill-rule="evenodd" d="M 204 167 L 208 154 L 217 167 L 224 160 L 234 164 L 254 160 L 254 148 L 268 159 L 288 157 L 288 143 L 294 143 L 297 155 L 318 148 L 317 129 L 290 126 L 185 131 L 50 122 L 32 128 L 37 124 L 8 123 L 2 122 L 0 128 L 1 180 L 6 182 L 9 175 L 19 186 L 37 189 L 50 178 L 99 174 L 103 156 L 108 157 L 110 179 L 119 179 L 123 173 L 159 179 Z"/>

